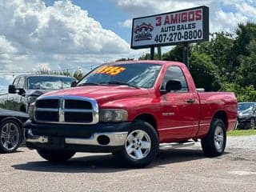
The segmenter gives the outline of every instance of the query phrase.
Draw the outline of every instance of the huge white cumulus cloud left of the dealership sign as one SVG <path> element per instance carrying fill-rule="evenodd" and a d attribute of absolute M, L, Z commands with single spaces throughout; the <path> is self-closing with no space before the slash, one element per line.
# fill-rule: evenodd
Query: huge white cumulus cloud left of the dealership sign
<path fill-rule="evenodd" d="M 0 0 L 0 70 L 62 70 L 113 61 L 130 45 L 72 2 Z M 110 60 L 109 60 L 110 59 Z"/>

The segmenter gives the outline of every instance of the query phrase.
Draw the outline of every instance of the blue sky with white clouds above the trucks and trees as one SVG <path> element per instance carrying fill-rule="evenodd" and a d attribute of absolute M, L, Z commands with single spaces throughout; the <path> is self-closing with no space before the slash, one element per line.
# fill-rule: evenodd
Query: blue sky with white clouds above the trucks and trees
<path fill-rule="evenodd" d="M 0 93 L 22 73 L 136 59 L 150 50 L 130 49 L 132 18 L 195 6 L 209 7 L 211 33 L 256 21 L 255 0 L 0 0 Z"/>

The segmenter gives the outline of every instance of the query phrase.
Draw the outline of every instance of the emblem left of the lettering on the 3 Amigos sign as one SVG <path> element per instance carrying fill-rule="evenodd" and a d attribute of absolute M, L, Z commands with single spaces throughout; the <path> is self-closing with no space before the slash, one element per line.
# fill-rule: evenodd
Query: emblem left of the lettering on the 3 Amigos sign
<path fill-rule="evenodd" d="M 142 23 L 140 26 L 136 26 L 134 29 L 134 41 L 144 41 L 152 39 L 152 34 L 150 32 L 154 30 L 154 27 L 151 24 L 146 24 L 145 22 Z"/>

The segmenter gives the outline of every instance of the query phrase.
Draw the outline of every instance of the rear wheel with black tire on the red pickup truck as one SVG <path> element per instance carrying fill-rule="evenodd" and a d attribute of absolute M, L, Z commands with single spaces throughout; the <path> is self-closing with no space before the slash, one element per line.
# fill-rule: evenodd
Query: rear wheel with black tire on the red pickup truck
<path fill-rule="evenodd" d="M 221 119 L 214 118 L 209 133 L 201 140 L 202 150 L 207 157 L 223 154 L 226 147 L 226 128 Z"/>

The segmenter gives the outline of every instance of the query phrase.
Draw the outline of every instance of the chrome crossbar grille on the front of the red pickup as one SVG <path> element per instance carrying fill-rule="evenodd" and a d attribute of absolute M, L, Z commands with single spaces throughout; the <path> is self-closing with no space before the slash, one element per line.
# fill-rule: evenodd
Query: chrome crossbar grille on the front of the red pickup
<path fill-rule="evenodd" d="M 38 98 L 34 120 L 43 123 L 96 124 L 98 103 L 78 96 L 45 96 Z"/>

